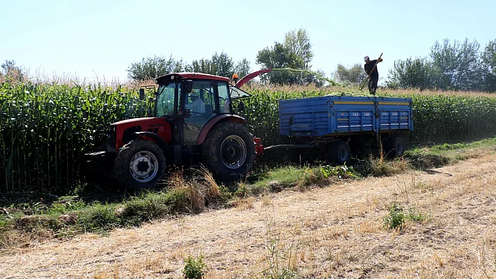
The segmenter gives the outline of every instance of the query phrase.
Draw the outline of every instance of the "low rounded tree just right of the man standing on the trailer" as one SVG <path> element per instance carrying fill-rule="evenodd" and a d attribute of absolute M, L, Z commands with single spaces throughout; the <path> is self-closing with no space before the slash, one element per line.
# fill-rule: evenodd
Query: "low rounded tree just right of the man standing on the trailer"
<path fill-rule="evenodd" d="M 432 62 L 424 58 L 408 58 L 394 62 L 390 69 L 388 87 L 393 88 L 418 88 L 420 90 L 434 88 L 436 71 Z"/>

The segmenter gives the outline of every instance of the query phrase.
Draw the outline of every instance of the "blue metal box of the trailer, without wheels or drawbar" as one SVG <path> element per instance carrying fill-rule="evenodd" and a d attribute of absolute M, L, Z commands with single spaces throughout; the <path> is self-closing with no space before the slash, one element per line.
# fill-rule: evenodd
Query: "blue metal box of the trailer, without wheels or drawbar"
<path fill-rule="evenodd" d="M 298 137 L 413 131 L 411 98 L 322 96 L 279 101 L 280 134 Z"/>

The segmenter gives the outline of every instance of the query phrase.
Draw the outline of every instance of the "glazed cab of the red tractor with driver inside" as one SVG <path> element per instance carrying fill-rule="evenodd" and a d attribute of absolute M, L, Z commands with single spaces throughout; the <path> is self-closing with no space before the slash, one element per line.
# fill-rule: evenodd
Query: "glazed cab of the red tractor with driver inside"
<path fill-rule="evenodd" d="M 229 78 L 203 73 L 170 73 L 156 78 L 156 117 L 174 123 L 172 139 L 180 145 L 200 145 L 202 127 L 215 117 L 233 115 L 231 99 L 250 96 L 229 84 Z"/>

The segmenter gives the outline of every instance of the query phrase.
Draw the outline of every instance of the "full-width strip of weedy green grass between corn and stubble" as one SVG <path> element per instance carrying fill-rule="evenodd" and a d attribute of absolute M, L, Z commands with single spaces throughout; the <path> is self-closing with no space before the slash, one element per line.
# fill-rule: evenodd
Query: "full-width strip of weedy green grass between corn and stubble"
<path fill-rule="evenodd" d="M 37 195 L 16 203 L 0 199 L 0 250 L 26 245 L 33 239 L 64 239 L 86 232 L 104 234 L 113 228 L 140 226 L 170 215 L 200 213 L 205 208 L 251 208 L 256 196 L 263 200 L 267 194 L 284 189 L 306 191 L 311 187 L 332 187 L 338 180 L 392 176 L 408 169 L 443 166 L 495 151 L 496 138 L 490 138 L 409 150 L 405 159 L 393 161 L 370 157 L 354 166 L 289 165 L 263 169 L 256 173 L 256 178 L 238 183 L 235 189 L 218 185 L 205 170 L 192 178 L 184 178 L 177 171 L 167 178 L 162 190 L 114 201 L 94 201 L 78 195 Z M 395 226 L 393 223 L 401 224 L 385 222 L 390 227 Z"/>

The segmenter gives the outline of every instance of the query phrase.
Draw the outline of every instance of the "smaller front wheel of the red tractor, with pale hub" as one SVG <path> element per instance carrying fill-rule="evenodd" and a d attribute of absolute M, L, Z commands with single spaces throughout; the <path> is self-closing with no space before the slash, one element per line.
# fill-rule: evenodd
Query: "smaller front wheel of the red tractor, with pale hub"
<path fill-rule="evenodd" d="M 165 174 L 165 154 L 151 141 L 130 141 L 116 157 L 116 178 L 126 189 L 151 189 Z"/>

